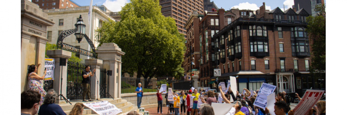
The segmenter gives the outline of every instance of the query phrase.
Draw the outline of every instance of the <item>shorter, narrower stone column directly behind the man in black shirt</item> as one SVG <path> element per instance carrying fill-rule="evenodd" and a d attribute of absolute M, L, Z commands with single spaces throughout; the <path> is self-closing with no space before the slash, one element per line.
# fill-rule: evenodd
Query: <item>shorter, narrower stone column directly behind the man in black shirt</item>
<path fill-rule="evenodd" d="M 100 59 L 85 59 L 85 64 L 90 65 L 90 69 L 93 72 L 95 69 L 95 74 L 91 76 L 90 80 L 90 92 L 91 99 L 100 99 L 100 66 L 102 65 L 102 60 Z"/>

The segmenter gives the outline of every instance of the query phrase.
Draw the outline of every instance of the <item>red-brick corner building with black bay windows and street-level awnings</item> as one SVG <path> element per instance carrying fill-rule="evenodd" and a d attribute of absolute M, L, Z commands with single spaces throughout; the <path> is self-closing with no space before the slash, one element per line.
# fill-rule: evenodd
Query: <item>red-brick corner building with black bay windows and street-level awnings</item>
<path fill-rule="evenodd" d="M 311 87 L 325 89 L 325 84 L 318 84 L 308 72 L 311 48 L 305 32 L 307 11 L 290 8 L 283 12 L 277 7 L 268 12 L 263 3 L 259 13 L 252 16 L 239 17 L 213 35 L 215 68 L 222 73 L 218 82 L 238 76 L 239 91 L 256 90 L 268 83 L 276 85 L 277 92 L 299 95 Z M 213 69 L 208 71 L 211 74 Z"/>

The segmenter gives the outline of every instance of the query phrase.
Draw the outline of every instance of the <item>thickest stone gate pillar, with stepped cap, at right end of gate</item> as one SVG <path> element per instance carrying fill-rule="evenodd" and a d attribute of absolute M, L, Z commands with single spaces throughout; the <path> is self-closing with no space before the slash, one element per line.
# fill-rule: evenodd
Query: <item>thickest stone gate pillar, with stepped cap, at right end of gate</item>
<path fill-rule="evenodd" d="M 102 68 L 112 70 L 112 75 L 106 78 L 107 88 L 109 93 L 114 98 L 121 97 L 121 56 L 125 53 L 115 43 L 103 43 L 95 51 L 98 54 L 98 59 L 103 60 Z"/>

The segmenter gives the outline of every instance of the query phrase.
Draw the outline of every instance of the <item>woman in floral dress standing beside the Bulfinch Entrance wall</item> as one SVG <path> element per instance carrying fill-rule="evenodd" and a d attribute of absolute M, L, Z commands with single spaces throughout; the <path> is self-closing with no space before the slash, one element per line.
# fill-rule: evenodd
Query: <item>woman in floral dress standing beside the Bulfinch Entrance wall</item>
<path fill-rule="evenodd" d="M 29 81 L 29 90 L 37 91 L 41 94 L 41 99 L 39 105 L 42 105 L 43 97 L 46 95 L 46 91 L 43 89 L 43 85 L 40 80 L 44 79 L 44 76 L 46 75 L 46 70 L 44 70 L 43 76 L 37 75 L 37 68 L 41 64 L 37 65 L 31 65 L 29 66 L 28 70 L 28 81 Z"/>

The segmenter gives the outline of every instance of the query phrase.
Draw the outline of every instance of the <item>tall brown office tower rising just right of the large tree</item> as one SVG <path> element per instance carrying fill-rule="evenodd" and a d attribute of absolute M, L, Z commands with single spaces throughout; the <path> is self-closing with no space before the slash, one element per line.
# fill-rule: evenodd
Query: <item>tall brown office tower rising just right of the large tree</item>
<path fill-rule="evenodd" d="M 160 0 L 161 13 L 165 17 L 172 17 L 175 19 L 177 29 L 183 33 L 184 38 L 187 39 L 187 30 L 183 28 L 190 14 L 197 10 L 198 14 L 203 14 L 203 0 Z"/>

